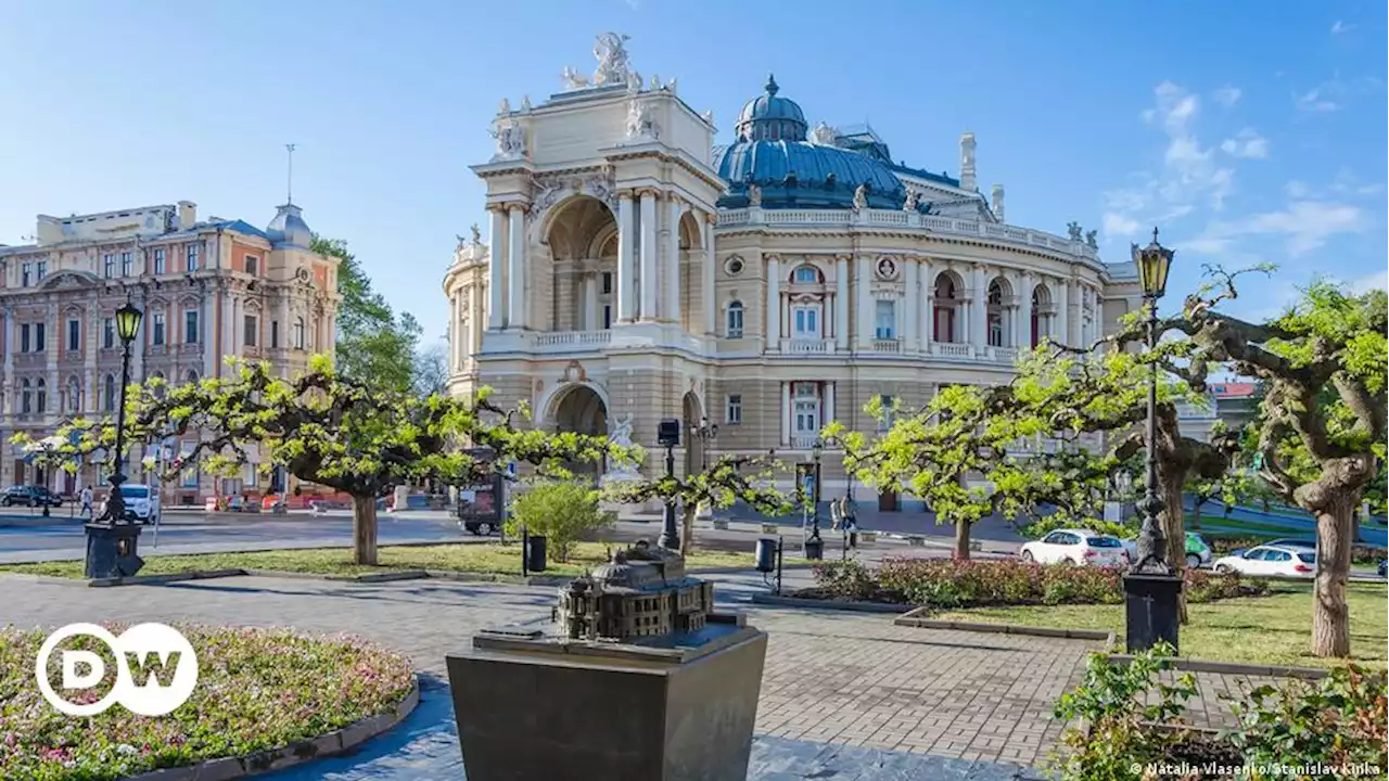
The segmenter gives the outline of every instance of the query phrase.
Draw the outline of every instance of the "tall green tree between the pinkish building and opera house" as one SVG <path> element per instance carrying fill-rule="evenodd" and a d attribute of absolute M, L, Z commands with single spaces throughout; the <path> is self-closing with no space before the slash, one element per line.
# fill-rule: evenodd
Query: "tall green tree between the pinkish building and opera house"
<path fill-rule="evenodd" d="M 375 292 L 361 263 L 342 239 L 314 236 L 313 252 L 336 257 L 338 371 L 349 379 L 371 382 L 397 392 L 417 385 L 419 322 L 410 313 L 396 314 Z"/>

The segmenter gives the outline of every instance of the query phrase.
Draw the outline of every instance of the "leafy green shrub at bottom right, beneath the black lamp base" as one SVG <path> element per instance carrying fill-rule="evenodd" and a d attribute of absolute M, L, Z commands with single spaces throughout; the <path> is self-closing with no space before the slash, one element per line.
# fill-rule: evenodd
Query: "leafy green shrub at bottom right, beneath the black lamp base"
<path fill-rule="evenodd" d="M 1061 735 L 1068 749 L 1060 762 L 1061 778 L 1136 781 L 1145 777 L 1146 764 L 1171 756 L 1183 735 L 1151 725 L 1176 725 L 1186 702 L 1197 693 L 1190 673 L 1176 675 L 1171 684 L 1164 681 L 1174 668 L 1172 655 L 1165 645 L 1136 655 L 1129 664 L 1111 664 L 1104 653 L 1090 655 L 1085 680 L 1056 705 L 1056 717 L 1071 723 Z"/>

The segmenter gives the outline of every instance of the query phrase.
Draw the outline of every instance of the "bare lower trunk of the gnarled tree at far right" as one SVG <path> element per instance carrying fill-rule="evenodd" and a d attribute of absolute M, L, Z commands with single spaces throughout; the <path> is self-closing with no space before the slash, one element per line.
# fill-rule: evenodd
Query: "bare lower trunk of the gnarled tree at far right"
<path fill-rule="evenodd" d="M 1356 502 L 1336 499 L 1317 513 L 1317 581 L 1313 589 L 1313 656 L 1350 656 L 1350 609 L 1346 581 L 1350 577 L 1350 532 Z"/>

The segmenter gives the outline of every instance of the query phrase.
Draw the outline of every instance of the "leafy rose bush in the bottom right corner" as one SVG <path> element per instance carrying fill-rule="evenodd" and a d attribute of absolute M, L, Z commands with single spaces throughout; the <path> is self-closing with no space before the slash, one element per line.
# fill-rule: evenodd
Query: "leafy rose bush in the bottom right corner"
<path fill-rule="evenodd" d="M 1256 768 L 1311 762 L 1389 767 L 1389 673 L 1336 667 L 1315 685 L 1257 687 L 1232 707 L 1240 728 L 1231 742 Z"/>

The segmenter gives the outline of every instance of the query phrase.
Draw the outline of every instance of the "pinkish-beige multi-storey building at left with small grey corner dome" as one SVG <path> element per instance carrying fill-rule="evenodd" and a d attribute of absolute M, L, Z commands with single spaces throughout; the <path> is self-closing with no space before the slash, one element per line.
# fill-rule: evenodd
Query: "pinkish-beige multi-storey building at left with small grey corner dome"
<path fill-rule="evenodd" d="M 338 260 L 311 252 L 311 240 L 293 203 L 281 206 L 265 229 L 242 220 L 200 221 L 190 202 L 40 214 L 33 243 L 0 246 L 4 482 L 74 493 L 107 478 L 96 464 L 44 474 L 10 438 L 22 431 L 42 439 L 74 417 L 115 414 L 121 340 L 114 314 L 125 302 L 144 313 L 132 345 L 132 382 L 222 377 L 228 356 L 267 360 L 288 377 L 310 356 L 331 354 Z M 176 457 L 190 447 L 168 442 L 153 454 Z M 139 447 L 131 454 L 132 482 L 150 478 L 143 456 Z M 275 481 L 286 489 L 279 475 Z M 189 470 L 164 484 L 164 502 L 264 492 L 268 482 L 253 467 L 240 479 Z"/>

